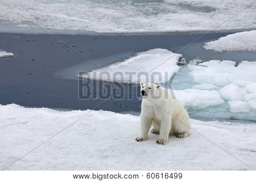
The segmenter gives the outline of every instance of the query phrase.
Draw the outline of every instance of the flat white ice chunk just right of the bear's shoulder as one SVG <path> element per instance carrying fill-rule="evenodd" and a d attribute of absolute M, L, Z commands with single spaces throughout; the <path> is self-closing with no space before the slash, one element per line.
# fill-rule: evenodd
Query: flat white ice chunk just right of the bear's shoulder
<path fill-rule="evenodd" d="M 193 107 L 194 109 L 202 109 L 224 103 L 220 94 L 215 90 L 185 89 L 174 90 L 174 93 L 183 106 Z"/>

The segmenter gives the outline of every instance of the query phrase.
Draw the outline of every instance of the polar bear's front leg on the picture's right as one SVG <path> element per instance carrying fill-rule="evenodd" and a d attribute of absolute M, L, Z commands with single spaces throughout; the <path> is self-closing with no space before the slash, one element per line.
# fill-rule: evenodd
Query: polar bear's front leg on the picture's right
<path fill-rule="evenodd" d="M 164 118 L 160 121 L 160 135 L 156 143 L 166 144 L 169 140 L 169 134 L 171 131 L 172 121 L 171 118 Z"/>

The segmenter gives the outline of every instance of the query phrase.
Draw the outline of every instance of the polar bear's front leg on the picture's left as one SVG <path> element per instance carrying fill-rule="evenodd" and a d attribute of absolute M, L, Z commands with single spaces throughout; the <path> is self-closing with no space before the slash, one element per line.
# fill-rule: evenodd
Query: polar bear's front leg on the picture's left
<path fill-rule="evenodd" d="M 144 118 L 143 115 L 141 115 L 141 135 L 136 138 L 137 142 L 147 140 L 148 131 L 150 130 L 151 125 L 152 119 Z"/>

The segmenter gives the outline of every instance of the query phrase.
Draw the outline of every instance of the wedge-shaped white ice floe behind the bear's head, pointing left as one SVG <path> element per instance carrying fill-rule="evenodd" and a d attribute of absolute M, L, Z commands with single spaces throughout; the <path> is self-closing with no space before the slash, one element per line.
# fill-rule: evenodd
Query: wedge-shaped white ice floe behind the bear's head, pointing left
<path fill-rule="evenodd" d="M 94 69 L 79 75 L 92 80 L 125 82 L 139 84 L 140 82 L 167 82 L 179 70 L 177 61 L 182 57 L 167 49 L 150 49 L 137 55 L 106 67 Z M 163 64 L 161 64 L 163 63 Z M 152 71 L 152 72 L 151 72 Z"/>

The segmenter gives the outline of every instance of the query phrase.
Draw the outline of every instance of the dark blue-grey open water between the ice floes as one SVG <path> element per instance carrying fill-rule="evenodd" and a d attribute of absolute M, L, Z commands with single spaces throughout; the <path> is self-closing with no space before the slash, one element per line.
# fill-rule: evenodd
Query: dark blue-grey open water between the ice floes
<path fill-rule="evenodd" d="M 208 34 L 203 38 L 200 38 L 202 34 L 56 36 L 100 66 L 129 57 L 136 51 L 153 48 L 165 48 L 175 53 L 182 50 L 179 53 L 186 60 L 203 57 L 205 60 L 233 60 L 237 63 L 242 60 L 255 61 L 255 53 L 214 53 L 201 48 L 204 42 L 226 35 L 228 33 Z M 97 98 L 102 93 L 96 88 L 100 88 L 102 82 L 88 81 L 84 84 L 73 77 L 79 71 L 77 69 L 90 70 L 97 66 L 51 35 L 0 34 L 0 49 L 15 54 L 15 57 L 0 60 L 0 104 L 115 112 L 140 110 L 141 100 L 134 97 L 134 94 L 139 95 L 138 85 L 115 85 L 122 86 L 122 93 L 119 93 L 122 99 L 112 97 L 101 104 L 102 100 Z M 73 71 L 65 69 L 69 67 L 73 67 Z M 93 97 L 80 100 L 83 90 L 79 85 L 84 86 L 86 93 Z M 88 85 L 93 85 L 93 89 L 88 90 Z"/>

